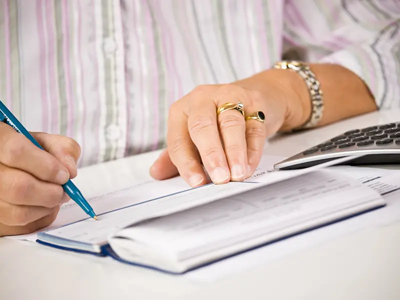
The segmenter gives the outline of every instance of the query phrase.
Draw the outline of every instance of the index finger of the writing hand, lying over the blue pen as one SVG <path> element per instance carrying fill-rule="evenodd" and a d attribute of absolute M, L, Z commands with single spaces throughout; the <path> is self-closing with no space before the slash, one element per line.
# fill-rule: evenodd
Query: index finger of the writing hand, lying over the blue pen
<path fill-rule="evenodd" d="M 53 155 L 36 147 L 24 135 L 0 122 L 0 162 L 58 184 L 69 178 L 67 168 Z"/>

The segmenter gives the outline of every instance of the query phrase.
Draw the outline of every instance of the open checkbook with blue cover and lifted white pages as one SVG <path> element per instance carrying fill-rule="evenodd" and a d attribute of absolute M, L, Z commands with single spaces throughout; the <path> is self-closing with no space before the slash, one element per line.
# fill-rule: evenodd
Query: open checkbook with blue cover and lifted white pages
<path fill-rule="evenodd" d="M 99 213 L 97 221 L 41 232 L 37 242 L 182 274 L 384 205 L 375 190 L 323 169 L 267 184 L 208 184 L 143 199 Z"/>

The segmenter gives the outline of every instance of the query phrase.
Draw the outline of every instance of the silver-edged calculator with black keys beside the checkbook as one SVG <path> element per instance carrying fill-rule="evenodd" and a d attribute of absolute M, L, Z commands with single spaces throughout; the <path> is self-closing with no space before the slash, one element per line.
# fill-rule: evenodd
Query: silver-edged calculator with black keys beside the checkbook
<path fill-rule="evenodd" d="M 332 159 L 361 155 L 345 164 L 400 163 L 400 121 L 351 129 L 274 165 L 275 169 L 297 169 Z"/>

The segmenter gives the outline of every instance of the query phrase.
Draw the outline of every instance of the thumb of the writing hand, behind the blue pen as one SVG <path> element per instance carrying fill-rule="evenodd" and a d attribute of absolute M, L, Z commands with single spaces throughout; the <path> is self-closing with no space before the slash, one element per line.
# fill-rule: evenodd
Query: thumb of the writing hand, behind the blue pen
<path fill-rule="evenodd" d="M 44 132 L 30 132 L 37 142 L 68 169 L 69 178 L 77 174 L 76 163 L 80 157 L 80 146 L 72 138 Z"/>

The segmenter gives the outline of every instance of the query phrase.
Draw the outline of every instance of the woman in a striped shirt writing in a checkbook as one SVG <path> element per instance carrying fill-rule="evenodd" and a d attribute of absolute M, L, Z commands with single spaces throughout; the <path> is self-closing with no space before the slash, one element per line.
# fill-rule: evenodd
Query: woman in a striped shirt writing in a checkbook
<path fill-rule="evenodd" d="M 1 99 L 51 133 L 0 123 L 0 235 L 51 223 L 79 157 L 167 146 L 154 178 L 243 180 L 276 131 L 399 105 L 396 0 L 0 3 Z"/>

